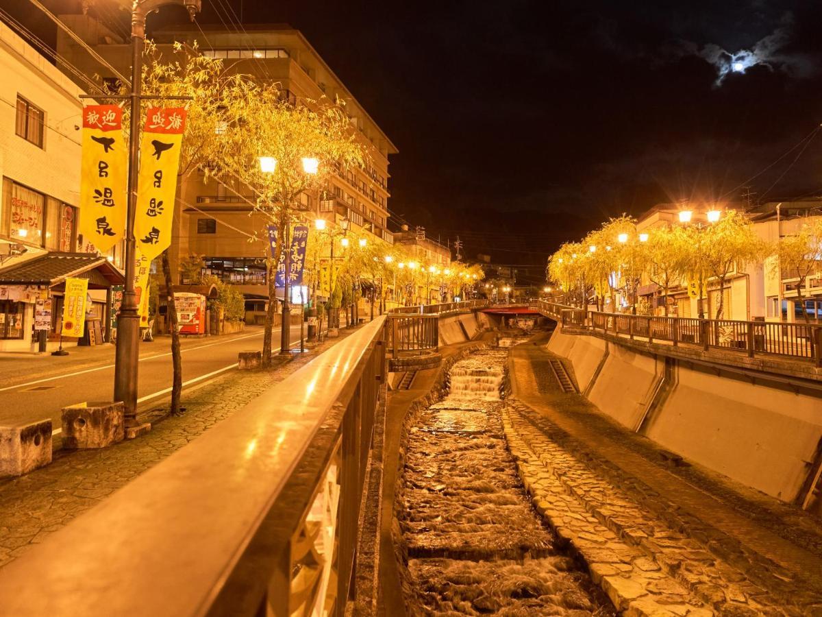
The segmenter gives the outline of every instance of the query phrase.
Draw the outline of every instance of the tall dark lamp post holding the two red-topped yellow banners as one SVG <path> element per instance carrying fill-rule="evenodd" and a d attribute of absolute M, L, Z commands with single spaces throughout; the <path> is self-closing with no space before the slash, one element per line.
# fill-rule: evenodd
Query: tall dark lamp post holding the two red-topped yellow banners
<path fill-rule="evenodd" d="M 145 16 L 160 7 L 177 4 L 188 14 L 200 12 L 201 0 L 136 0 L 132 8 L 132 116 L 129 134 L 128 204 L 126 210 L 126 281 L 117 316 L 117 348 L 114 352 L 114 400 L 125 407 L 127 427 L 136 426 L 137 368 L 140 360 L 140 314 L 134 294 L 136 240 L 134 217 L 137 209 L 137 168 L 140 165 L 140 116 L 142 95 L 142 53 L 145 46 Z"/>

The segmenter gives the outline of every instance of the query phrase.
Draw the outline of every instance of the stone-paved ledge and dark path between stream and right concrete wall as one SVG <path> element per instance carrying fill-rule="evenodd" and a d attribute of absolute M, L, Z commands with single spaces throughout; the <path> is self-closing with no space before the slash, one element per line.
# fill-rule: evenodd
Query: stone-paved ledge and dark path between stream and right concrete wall
<path fill-rule="evenodd" d="M 561 392 L 550 357 L 533 344 L 512 352 L 519 402 L 506 437 L 538 510 L 615 603 L 685 615 L 690 596 L 721 615 L 822 615 L 815 520 L 695 466 L 668 467 L 647 439 Z"/>

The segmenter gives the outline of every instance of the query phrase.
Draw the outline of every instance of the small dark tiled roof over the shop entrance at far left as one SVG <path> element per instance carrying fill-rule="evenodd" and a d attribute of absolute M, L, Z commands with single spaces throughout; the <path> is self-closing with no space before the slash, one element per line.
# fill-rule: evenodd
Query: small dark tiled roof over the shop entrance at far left
<path fill-rule="evenodd" d="M 126 277 L 109 260 L 90 253 L 46 253 L 0 270 L 0 285 L 62 285 L 69 277 L 88 279 L 90 289 L 122 285 Z"/>

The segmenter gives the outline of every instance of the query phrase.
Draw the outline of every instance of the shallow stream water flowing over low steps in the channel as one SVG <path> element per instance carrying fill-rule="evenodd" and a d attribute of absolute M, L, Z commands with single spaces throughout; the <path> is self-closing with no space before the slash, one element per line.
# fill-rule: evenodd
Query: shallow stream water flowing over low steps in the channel
<path fill-rule="evenodd" d="M 409 435 L 400 527 L 409 615 L 614 615 L 556 550 L 506 448 L 507 350 L 455 363 L 448 396 Z"/>

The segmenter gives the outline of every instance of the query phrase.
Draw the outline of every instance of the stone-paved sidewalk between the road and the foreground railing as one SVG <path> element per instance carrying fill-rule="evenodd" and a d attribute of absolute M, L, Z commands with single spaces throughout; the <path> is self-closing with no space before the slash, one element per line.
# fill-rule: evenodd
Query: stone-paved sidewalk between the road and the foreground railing
<path fill-rule="evenodd" d="M 185 413 L 165 418 L 141 438 L 100 450 L 61 450 L 55 452 L 54 461 L 49 466 L 27 476 L 0 480 L 0 567 L 260 396 L 267 388 L 282 381 L 351 332 L 341 330 L 339 338 L 329 339 L 311 353 L 286 361 L 279 368 L 242 373 L 231 371 L 182 392 Z M 141 417 L 151 417 L 156 407 L 155 402 Z M 208 473 L 208 470 L 204 469 L 203 473 Z"/>

